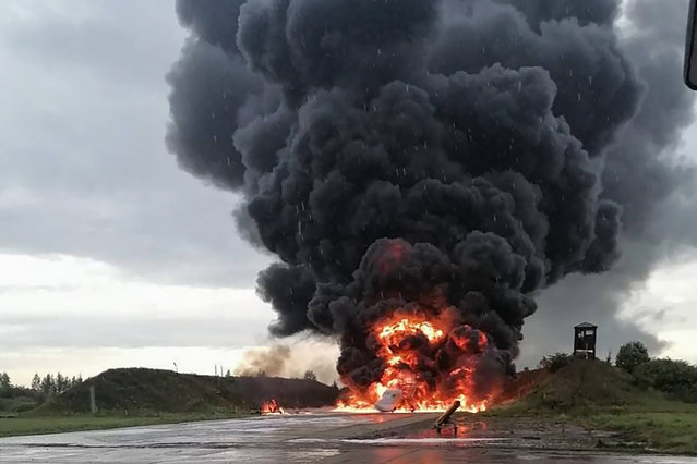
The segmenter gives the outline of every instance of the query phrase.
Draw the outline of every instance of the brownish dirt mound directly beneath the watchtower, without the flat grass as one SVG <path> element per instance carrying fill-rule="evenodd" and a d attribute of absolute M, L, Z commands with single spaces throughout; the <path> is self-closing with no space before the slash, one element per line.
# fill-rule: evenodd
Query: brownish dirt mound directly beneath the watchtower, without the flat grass
<path fill-rule="evenodd" d="M 632 376 L 601 361 L 574 359 L 554 374 L 544 369 L 522 373 L 502 395 L 502 404 L 529 410 L 585 410 L 630 406 L 651 401 Z"/>

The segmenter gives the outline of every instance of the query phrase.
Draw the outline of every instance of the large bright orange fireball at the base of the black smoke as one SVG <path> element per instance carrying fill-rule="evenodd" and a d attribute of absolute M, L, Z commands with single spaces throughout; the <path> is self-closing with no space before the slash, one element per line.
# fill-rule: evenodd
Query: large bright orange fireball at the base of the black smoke
<path fill-rule="evenodd" d="M 377 356 L 385 366 L 380 380 L 368 388 L 343 379 L 349 393 L 337 404 L 338 411 L 373 411 L 375 403 L 388 390 L 401 392 L 395 412 L 440 412 L 459 400 L 460 411 L 477 413 L 486 410 L 488 400 L 476 400 L 472 374 L 478 353 L 484 351 L 489 340 L 483 332 L 469 326 L 454 323 L 452 313 L 428 317 L 396 310 L 392 316 L 374 323 L 370 332 L 376 342 Z M 428 344 L 425 346 L 423 344 Z M 426 379 L 423 367 L 434 366 L 435 353 L 446 343 L 461 353 L 457 366 L 437 378 Z M 423 353 L 432 353 L 424 356 Z M 431 369 L 436 370 L 437 369 Z"/>

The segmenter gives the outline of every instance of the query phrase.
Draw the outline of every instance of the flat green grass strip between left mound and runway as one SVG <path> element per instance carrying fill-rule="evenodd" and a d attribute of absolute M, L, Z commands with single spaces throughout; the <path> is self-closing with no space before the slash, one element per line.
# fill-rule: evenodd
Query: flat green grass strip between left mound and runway
<path fill-rule="evenodd" d="M 0 418 L 0 437 L 17 435 L 58 434 L 77 430 L 103 430 L 157 424 L 178 424 L 194 420 L 214 420 L 245 417 L 248 414 L 178 413 L 151 416 L 70 415 L 62 417 Z"/>

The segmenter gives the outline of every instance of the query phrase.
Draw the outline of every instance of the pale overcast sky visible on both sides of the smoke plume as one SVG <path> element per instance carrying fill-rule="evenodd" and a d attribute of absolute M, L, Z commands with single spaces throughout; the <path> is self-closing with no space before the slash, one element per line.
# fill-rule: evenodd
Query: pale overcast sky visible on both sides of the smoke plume
<path fill-rule="evenodd" d="M 271 257 L 237 236 L 235 196 L 165 149 L 164 76 L 184 38 L 169 0 L 0 2 L 0 371 L 15 382 L 175 362 L 213 374 L 271 343 L 254 292 Z M 624 302 L 668 342 L 654 354 L 697 362 L 696 278 L 686 251 Z M 544 315 L 524 365 L 568 351 L 534 330 Z"/>

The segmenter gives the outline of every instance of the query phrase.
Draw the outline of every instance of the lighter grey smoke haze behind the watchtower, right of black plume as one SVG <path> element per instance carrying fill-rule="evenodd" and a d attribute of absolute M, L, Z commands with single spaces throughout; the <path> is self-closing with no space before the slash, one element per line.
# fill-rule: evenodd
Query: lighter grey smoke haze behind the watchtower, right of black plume
<path fill-rule="evenodd" d="M 574 276 L 541 294 L 540 310 L 528 325 L 534 342 L 524 343 L 527 364 L 568 346 L 568 328 L 581 319 L 600 326 L 603 354 L 616 353 L 629 340 L 641 340 L 653 352 L 662 345 L 654 334 L 615 315 L 658 264 L 683 246 L 697 245 L 694 166 L 676 156 L 681 134 L 694 121 L 694 98 L 681 85 L 687 3 L 626 4 L 629 32 L 621 45 L 645 91 L 638 112 L 606 156 L 602 194 L 623 206 L 622 258 L 602 276 Z"/>

